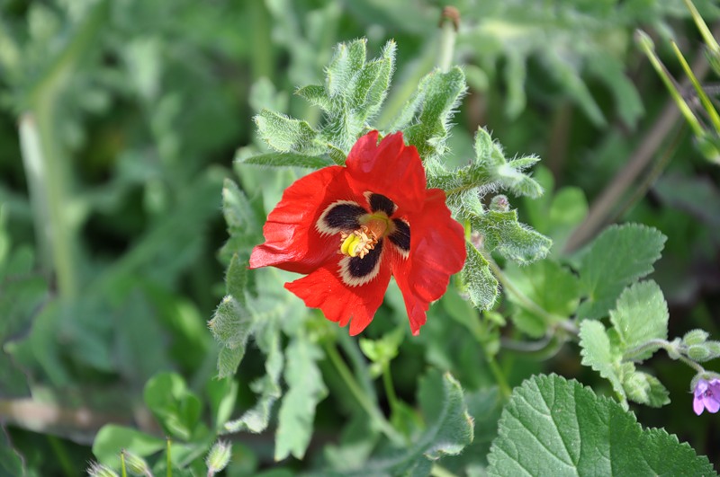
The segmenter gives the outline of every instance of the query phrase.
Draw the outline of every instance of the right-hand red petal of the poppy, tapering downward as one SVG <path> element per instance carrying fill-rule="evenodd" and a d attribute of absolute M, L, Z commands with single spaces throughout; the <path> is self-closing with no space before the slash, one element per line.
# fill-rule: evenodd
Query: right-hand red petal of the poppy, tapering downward
<path fill-rule="evenodd" d="M 425 324 L 430 303 L 445 294 L 450 276 L 465 262 L 463 225 L 450 216 L 445 199 L 443 190 L 428 190 L 421 213 L 408 217 L 408 259 L 402 260 L 396 252 L 392 260 L 392 275 L 405 299 L 413 334 Z"/>

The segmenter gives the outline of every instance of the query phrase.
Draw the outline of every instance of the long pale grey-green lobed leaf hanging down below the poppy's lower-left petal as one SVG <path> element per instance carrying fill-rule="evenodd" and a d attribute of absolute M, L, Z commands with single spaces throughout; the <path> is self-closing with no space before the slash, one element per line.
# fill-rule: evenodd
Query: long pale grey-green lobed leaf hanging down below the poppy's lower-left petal
<path fill-rule="evenodd" d="M 277 416 L 275 460 L 288 455 L 302 459 L 310 444 L 315 407 L 328 393 L 317 362 L 323 353 L 306 337 L 296 337 L 285 351 L 287 367 L 284 378 L 288 391 Z"/>

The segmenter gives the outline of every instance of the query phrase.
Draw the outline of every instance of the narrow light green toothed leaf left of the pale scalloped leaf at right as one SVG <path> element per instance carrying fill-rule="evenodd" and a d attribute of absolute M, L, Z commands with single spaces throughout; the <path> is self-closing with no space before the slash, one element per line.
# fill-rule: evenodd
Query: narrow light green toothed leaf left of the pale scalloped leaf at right
<path fill-rule="evenodd" d="M 622 399 L 626 393 L 620 376 L 620 359 L 617 349 L 613 349 L 608 333 L 601 322 L 586 320 L 580 325 L 580 346 L 582 365 L 598 371 L 613 385 L 613 390 Z"/>

